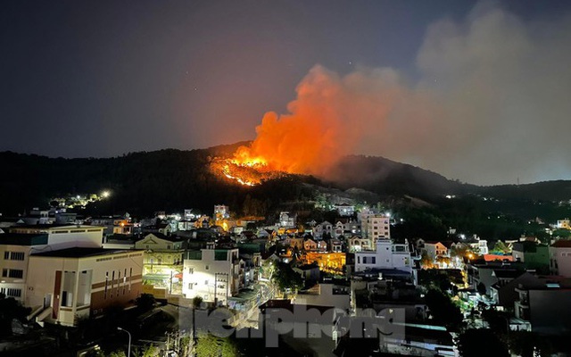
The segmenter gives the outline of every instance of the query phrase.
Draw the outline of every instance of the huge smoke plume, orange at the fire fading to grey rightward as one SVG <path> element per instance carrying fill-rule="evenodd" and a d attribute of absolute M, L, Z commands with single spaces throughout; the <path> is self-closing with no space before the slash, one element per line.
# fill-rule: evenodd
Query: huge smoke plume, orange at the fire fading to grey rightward
<path fill-rule="evenodd" d="M 427 29 L 418 79 L 390 68 L 317 65 L 288 112 L 267 113 L 242 157 L 323 175 L 372 154 L 476 184 L 571 178 L 571 16 L 523 21 L 479 4 Z"/>

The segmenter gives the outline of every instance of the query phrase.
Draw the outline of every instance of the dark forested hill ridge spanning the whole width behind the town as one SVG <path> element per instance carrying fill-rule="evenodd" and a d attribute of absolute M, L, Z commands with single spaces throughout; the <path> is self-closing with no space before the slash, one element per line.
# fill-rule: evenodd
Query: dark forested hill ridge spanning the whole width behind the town
<path fill-rule="evenodd" d="M 271 212 L 280 203 L 309 200 L 316 186 L 363 188 L 380 197 L 413 196 L 430 201 L 443 195 L 496 195 L 510 198 L 568 200 L 570 181 L 521 187 L 476 187 L 400 162 L 380 157 L 348 156 L 327 180 L 287 175 L 257 187 L 243 187 L 210 170 L 212 158 L 229 157 L 239 145 L 208 149 L 125 154 L 104 159 L 48 158 L 34 154 L 0 153 L 0 212 L 15 214 L 46 207 L 62 195 L 112 191 L 112 199 L 97 203 L 100 212 L 150 214 L 197 208 L 211 212 L 226 203 L 249 213 Z M 304 185 L 310 183 L 311 185 Z M 94 207 L 92 207 L 94 208 Z"/>

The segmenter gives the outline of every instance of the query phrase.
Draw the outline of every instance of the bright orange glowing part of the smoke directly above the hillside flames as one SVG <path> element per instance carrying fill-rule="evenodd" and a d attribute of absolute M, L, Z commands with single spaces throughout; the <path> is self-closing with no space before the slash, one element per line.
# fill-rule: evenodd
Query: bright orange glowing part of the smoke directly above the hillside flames
<path fill-rule="evenodd" d="M 266 112 L 250 146 L 234 154 L 238 165 L 289 173 L 326 173 L 352 152 L 357 125 L 348 125 L 351 105 L 343 100 L 343 83 L 335 73 L 316 67 L 296 88 L 288 114 Z M 340 103 L 343 102 L 343 103 Z"/>

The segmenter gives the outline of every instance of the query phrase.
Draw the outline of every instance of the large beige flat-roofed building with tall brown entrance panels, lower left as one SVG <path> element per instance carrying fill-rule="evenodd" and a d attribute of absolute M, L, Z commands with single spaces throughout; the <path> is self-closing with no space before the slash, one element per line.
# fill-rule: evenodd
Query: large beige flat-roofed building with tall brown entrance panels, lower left
<path fill-rule="evenodd" d="M 37 253 L 29 257 L 25 305 L 38 312 L 38 320 L 74 326 L 136 299 L 142 267 L 138 251 L 75 247 Z"/>

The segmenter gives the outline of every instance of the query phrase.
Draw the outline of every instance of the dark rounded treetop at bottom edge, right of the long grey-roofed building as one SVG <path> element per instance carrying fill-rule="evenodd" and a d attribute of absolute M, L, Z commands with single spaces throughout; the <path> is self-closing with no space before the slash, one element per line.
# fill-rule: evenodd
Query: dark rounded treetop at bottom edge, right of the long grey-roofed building
<path fill-rule="evenodd" d="M 458 349 L 462 357 L 509 357 L 507 346 L 488 328 L 470 328 L 461 333 Z"/>

